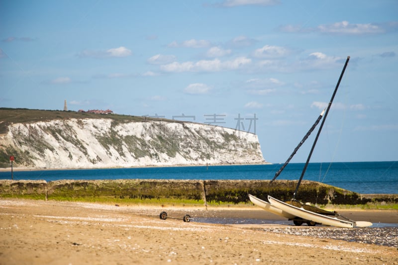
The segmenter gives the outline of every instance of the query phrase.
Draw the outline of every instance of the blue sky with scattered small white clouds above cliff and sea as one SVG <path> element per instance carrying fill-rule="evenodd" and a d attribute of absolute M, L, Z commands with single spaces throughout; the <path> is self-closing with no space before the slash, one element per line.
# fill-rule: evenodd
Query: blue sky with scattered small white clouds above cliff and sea
<path fill-rule="evenodd" d="M 311 162 L 398 161 L 396 0 L 0 0 L 0 107 L 67 100 L 236 128 L 271 163 L 330 101 L 347 56 Z"/>

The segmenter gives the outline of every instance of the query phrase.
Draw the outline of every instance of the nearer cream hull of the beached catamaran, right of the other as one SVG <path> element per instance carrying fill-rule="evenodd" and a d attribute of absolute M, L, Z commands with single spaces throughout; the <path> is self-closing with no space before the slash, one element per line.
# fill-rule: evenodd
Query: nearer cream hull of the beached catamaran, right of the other
<path fill-rule="evenodd" d="M 291 214 L 293 216 L 300 217 L 304 220 L 309 220 L 323 225 L 330 225 L 330 226 L 344 227 L 344 228 L 353 228 L 355 225 L 354 222 L 345 221 L 338 219 L 336 217 L 310 212 L 305 210 L 304 208 L 298 208 L 283 201 L 277 200 L 271 196 L 268 196 L 268 201 L 270 202 L 272 207 L 280 209 L 281 211 Z"/>

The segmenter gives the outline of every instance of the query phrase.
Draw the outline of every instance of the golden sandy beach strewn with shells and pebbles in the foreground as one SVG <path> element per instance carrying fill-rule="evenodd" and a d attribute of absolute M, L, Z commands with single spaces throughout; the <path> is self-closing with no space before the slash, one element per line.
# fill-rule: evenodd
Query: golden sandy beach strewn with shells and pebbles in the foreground
<path fill-rule="evenodd" d="M 161 211 L 194 219 L 161 220 Z M 355 220 L 398 223 L 398 211 L 345 210 L 345 214 Z M 271 223 L 195 220 L 210 217 L 262 218 Z M 397 227 L 378 231 L 272 224 L 278 219 L 253 208 L 1 199 L 0 264 L 398 264 Z M 389 240 L 350 242 L 372 231 L 384 232 L 375 237 Z M 344 240 L 334 239 L 336 233 Z"/>

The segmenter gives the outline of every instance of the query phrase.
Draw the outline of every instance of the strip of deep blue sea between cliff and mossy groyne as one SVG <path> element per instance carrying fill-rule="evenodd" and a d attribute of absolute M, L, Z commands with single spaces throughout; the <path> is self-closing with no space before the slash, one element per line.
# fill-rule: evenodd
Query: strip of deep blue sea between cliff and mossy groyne
<path fill-rule="evenodd" d="M 90 170 L 14 171 L 13 178 L 44 179 L 272 179 L 281 164 L 197 167 L 154 167 Z M 303 163 L 291 163 L 277 179 L 298 179 Z M 10 172 L 0 172 L 0 179 L 11 179 Z M 398 161 L 310 163 L 306 180 L 314 180 L 371 194 L 398 194 Z"/>

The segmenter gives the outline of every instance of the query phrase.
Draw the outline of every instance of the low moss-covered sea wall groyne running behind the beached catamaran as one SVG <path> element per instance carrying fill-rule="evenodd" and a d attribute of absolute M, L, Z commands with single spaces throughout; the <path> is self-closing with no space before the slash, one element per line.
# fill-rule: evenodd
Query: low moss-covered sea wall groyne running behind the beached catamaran
<path fill-rule="evenodd" d="M 248 194 L 289 200 L 294 180 L 0 180 L 0 197 L 125 203 L 250 204 Z M 398 194 L 360 194 L 304 180 L 297 198 L 325 204 L 398 203 Z"/>

